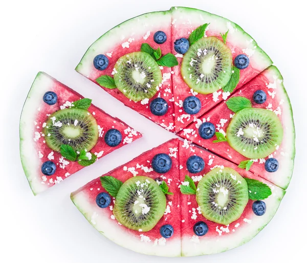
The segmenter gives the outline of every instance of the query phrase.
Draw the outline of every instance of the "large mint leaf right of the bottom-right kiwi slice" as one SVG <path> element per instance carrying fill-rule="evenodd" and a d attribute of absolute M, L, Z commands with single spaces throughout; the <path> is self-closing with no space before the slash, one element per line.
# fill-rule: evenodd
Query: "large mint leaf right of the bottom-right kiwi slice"
<path fill-rule="evenodd" d="M 245 178 L 248 186 L 248 196 L 250 200 L 264 200 L 271 194 L 271 188 L 257 180 Z"/>

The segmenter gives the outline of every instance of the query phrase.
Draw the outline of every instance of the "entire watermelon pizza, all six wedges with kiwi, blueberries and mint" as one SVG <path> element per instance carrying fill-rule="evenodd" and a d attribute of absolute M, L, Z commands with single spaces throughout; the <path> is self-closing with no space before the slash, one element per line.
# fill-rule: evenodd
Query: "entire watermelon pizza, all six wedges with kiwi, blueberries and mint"
<path fill-rule="evenodd" d="M 270 222 L 292 177 L 292 108 L 242 28 L 191 8 L 147 13 L 102 35 L 76 71 L 184 139 L 71 194 L 100 233 L 140 253 L 194 256 L 240 246 Z M 43 73 L 20 121 L 34 193 L 139 137 Z"/>

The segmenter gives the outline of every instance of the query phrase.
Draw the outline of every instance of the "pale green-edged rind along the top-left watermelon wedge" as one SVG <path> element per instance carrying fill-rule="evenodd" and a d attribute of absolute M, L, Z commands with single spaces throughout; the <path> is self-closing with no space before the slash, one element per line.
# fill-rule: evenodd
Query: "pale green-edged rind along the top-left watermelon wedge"
<path fill-rule="evenodd" d="M 127 35 L 127 32 L 131 31 L 131 28 L 133 28 L 133 25 L 135 23 L 138 23 L 138 19 L 144 19 L 146 18 L 146 22 L 148 23 L 149 19 L 152 19 L 153 23 L 157 23 L 157 21 L 161 21 L 163 16 L 169 15 L 170 10 L 168 11 L 157 11 L 157 12 L 149 12 L 145 13 L 133 18 L 130 18 L 123 23 L 115 26 L 114 28 L 110 29 L 106 33 L 104 33 L 102 36 L 100 36 L 92 45 L 86 50 L 85 54 L 83 55 L 82 59 L 80 60 L 79 64 L 76 67 L 76 71 L 82 74 L 85 77 L 89 77 L 90 73 L 89 70 L 92 68 L 93 65 L 93 59 L 97 55 L 97 49 L 100 50 L 102 54 L 107 52 L 109 49 L 106 48 L 107 45 L 105 45 L 105 42 L 109 42 L 109 37 L 112 36 L 118 36 L 119 34 L 125 34 Z M 154 24 L 155 25 L 155 24 Z M 156 25 L 155 25 L 156 27 Z M 148 29 L 147 29 L 148 30 Z M 104 41 L 106 40 L 106 41 Z M 118 39 L 117 39 L 118 40 Z M 111 41 L 112 44 L 109 45 L 109 48 L 112 48 L 114 46 L 114 42 Z M 117 43 L 120 43 L 120 40 L 117 41 Z M 89 67 L 91 65 L 91 67 Z M 88 68 L 86 68 L 88 67 Z"/>

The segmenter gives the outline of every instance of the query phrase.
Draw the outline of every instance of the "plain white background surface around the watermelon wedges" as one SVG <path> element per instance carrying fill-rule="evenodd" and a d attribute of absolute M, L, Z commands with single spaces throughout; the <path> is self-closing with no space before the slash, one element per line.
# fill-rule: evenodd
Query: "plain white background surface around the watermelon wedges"
<path fill-rule="evenodd" d="M 198 3 L 199 2 L 199 3 Z M 2 1 L 0 4 L 0 261 L 287 262 L 305 261 L 306 14 L 299 1 Z M 175 137 L 124 107 L 74 68 L 100 35 L 142 13 L 189 6 L 233 20 L 279 68 L 292 101 L 297 155 L 292 182 L 271 223 L 248 244 L 194 258 L 146 256 L 100 235 L 70 201 L 90 180 Z M 33 196 L 19 160 L 19 115 L 38 71 L 72 87 L 144 137 L 104 157 L 47 192 Z M 285 138 L 287 140 L 287 138 Z"/>

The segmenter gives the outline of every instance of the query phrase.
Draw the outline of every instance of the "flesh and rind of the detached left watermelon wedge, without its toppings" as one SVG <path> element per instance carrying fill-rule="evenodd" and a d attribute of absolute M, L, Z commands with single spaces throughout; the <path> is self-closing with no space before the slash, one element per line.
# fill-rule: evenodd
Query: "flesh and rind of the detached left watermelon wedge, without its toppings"
<path fill-rule="evenodd" d="M 53 105 L 48 105 L 42 100 L 48 91 L 55 92 L 58 96 L 57 102 Z M 35 195 L 84 168 L 78 162 L 68 161 L 59 152 L 50 149 L 42 133 L 48 116 L 59 109 L 69 107 L 71 102 L 81 98 L 83 97 L 80 94 L 43 72 L 37 74 L 32 84 L 20 117 L 20 157 Z M 136 130 L 121 120 L 109 116 L 93 104 L 89 107 L 89 112 L 98 124 L 99 139 L 91 150 L 98 159 L 142 137 Z M 122 134 L 122 142 L 116 147 L 108 146 L 103 139 L 103 134 L 111 128 L 118 129 Z M 56 171 L 52 176 L 44 176 L 41 172 L 41 165 L 46 161 L 56 163 Z"/>

